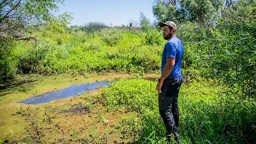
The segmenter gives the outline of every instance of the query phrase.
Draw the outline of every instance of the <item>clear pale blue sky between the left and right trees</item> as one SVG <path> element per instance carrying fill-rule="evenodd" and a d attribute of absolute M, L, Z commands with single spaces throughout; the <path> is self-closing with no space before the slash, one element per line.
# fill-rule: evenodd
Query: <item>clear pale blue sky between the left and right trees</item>
<path fill-rule="evenodd" d="M 69 12 L 71 25 L 82 26 L 87 22 L 103 22 L 107 26 L 127 26 L 133 22 L 139 26 L 140 11 L 154 22 L 154 0 L 66 0 L 59 5 L 59 14 Z"/>

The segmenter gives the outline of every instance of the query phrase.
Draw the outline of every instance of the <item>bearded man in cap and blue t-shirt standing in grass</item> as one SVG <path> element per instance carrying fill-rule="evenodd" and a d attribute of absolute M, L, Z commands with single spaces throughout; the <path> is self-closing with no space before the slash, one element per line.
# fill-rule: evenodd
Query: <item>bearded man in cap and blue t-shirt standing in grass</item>
<path fill-rule="evenodd" d="M 158 79 L 158 105 L 162 120 L 170 140 L 174 134 L 178 142 L 178 92 L 182 85 L 182 58 L 184 48 L 182 42 L 175 37 L 177 30 L 174 22 L 160 22 L 166 46 L 162 51 L 161 77 Z"/>

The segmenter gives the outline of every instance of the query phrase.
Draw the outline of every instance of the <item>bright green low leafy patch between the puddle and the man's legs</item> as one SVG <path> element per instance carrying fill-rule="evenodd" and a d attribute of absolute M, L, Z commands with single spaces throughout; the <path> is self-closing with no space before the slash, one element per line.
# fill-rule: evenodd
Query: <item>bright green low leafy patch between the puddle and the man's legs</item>
<path fill-rule="evenodd" d="M 114 82 L 110 89 L 104 90 L 106 106 L 109 109 L 126 106 L 128 110 L 138 113 L 149 108 L 153 110 L 157 99 L 157 97 L 153 97 L 155 95 L 153 85 L 154 82 L 150 83 L 144 79 L 127 79 Z"/>

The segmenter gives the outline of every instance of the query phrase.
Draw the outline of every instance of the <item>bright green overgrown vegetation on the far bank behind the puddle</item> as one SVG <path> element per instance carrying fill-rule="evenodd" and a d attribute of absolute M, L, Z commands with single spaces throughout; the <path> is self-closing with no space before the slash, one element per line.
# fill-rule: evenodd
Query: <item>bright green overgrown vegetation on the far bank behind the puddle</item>
<path fill-rule="evenodd" d="M 150 73 L 160 69 L 162 46 L 159 42 L 149 45 L 142 31 L 106 29 L 89 35 L 37 35 L 38 42 L 21 42 L 17 46 L 18 70 L 22 73 Z"/>

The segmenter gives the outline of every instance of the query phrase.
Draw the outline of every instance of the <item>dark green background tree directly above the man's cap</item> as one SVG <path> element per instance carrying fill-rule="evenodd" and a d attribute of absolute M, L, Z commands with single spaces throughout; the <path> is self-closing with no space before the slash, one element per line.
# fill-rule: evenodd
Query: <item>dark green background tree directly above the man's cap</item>
<path fill-rule="evenodd" d="M 203 22 L 218 18 L 222 0 L 158 0 L 153 13 L 158 21 Z"/>

